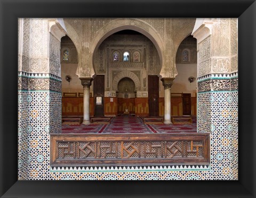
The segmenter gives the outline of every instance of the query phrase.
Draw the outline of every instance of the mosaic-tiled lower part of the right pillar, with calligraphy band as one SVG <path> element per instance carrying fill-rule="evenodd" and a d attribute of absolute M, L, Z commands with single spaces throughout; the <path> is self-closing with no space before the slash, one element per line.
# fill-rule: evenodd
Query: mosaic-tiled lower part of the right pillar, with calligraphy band
<path fill-rule="evenodd" d="M 198 132 L 211 133 L 212 178 L 238 179 L 237 73 L 198 78 L 197 122 Z"/>

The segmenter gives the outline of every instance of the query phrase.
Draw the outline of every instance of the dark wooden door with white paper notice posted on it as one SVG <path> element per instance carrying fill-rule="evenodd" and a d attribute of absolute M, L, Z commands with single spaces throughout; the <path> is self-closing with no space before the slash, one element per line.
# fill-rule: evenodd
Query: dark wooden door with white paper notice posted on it
<path fill-rule="evenodd" d="M 97 75 L 93 79 L 94 116 L 104 116 L 105 76 Z"/>

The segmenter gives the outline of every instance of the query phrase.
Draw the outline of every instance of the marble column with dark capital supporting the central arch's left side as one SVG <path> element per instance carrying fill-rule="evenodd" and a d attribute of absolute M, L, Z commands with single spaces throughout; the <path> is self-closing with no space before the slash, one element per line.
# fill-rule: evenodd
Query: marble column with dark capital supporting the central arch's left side
<path fill-rule="evenodd" d="M 90 86 L 93 78 L 80 78 L 84 87 L 84 120 L 83 124 L 90 124 Z"/>

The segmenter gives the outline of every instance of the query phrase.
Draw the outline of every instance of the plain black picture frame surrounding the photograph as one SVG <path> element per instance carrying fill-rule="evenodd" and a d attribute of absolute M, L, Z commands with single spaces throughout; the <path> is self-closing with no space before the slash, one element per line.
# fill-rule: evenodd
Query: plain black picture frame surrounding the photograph
<path fill-rule="evenodd" d="M 4 1 L 1 2 L 1 197 L 255 197 L 256 2 L 237 1 Z M 238 18 L 238 180 L 18 180 L 18 18 Z"/>

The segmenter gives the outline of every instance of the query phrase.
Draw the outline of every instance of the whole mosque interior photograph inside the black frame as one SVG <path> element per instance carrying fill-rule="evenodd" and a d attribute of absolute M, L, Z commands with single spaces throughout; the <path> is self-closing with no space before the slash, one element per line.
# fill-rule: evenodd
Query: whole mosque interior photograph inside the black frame
<path fill-rule="evenodd" d="M 237 180 L 236 18 L 19 18 L 19 180 Z"/>

